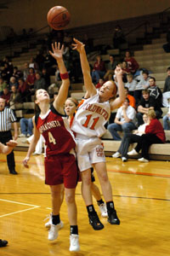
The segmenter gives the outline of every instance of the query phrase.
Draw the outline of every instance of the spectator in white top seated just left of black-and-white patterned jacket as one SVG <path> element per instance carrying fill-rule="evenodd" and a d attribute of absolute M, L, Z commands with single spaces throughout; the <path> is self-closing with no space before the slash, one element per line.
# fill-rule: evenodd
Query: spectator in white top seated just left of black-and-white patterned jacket
<path fill-rule="evenodd" d="M 142 79 L 139 81 L 138 84 L 136 84 L 136 88 L 134 90 L 133 96 L 135 97 L 136 104 L 139 103 L 139 100 L 141 99 L 142 96 L 142 90 L 147 89 L 148 86 L 150 85 L 150 77 L 149 73 L 147 71 L 142 72 Z"/>

